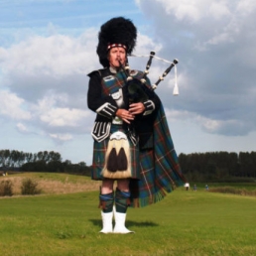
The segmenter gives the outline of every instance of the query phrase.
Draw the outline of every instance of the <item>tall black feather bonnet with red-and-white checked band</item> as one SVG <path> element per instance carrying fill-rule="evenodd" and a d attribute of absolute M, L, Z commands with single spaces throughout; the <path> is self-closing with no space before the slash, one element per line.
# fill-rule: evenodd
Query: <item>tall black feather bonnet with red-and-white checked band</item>
<path fill-rule="evenodd" d="M 113 47 L 123 47 L 130 55 L 135 48 L 137 29 L 131 20 L 123 17 L 112 18 L 104 23 L 98 33 L 97 55 L 99 63 L 109 66 L 108 51 Z"/>

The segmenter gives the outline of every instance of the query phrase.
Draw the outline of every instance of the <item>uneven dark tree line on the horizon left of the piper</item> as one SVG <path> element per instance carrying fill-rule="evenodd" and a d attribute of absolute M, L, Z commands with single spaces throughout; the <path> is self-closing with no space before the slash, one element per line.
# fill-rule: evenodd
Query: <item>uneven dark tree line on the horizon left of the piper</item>
<path fill-rule="evenodd" d="M 0 150 L 0 170 L 90 175 L 86 163 L 72 164 L 69 160 L 63 161 L 62 155 L 55 151 L 40 151 L 33 154 L 17 150 Z"/>

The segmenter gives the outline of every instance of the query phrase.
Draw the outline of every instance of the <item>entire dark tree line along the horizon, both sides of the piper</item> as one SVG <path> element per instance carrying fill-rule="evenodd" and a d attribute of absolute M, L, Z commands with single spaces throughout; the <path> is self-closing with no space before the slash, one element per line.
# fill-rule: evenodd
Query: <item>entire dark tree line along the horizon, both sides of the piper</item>
<path fill-rule="evenodd" d="M 180 154 L 183 174 L 194 182 L 253 181 L 256 178 L 256 152 L 206 152 Z M 72 164 L 63 161 L 54 151 L 25 153 L 17 150 L 0 150 L 0 170 L 72 173 L 90 176 L 90 167 L 84 162 Z"/>

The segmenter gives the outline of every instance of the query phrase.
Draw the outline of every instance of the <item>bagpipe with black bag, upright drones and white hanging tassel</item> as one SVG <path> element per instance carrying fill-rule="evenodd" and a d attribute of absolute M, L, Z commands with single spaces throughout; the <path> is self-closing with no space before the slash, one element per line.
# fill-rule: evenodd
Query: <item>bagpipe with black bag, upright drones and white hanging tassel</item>
<path fill-rule="evenodd" d="M 177 64 L 179 61 L 175 59 L 173 62 L 166 61 L 164 59 L 158 58 L 155 56 L 155 52 L 150 52 L 149 56 L 137 56 L 137 55 L 129 55 L 130 57 L 149 57 L 149 60 L 146 64 L 146 68 L 143 72 L 143 76 L 141 78 L 136 78 L 132 76 L 132 73 L 130 71 L 130 66 L 128 62 L 124 65 L 121 64 L 119 61 L 120 67 L 123 69 L 126 75 L 126 93 L 129 98 L 130 103 L 137 103 L 137 102 L 145 102 L 150 98 L 152 95 L 153 91 L 158 87 L 159 83 L 164 80 L 164 77 L 171 71 L 173 67 L 175 67 L 175 87 L 173 94 L 174 95 L 179 95 L 179 88 L 178 88 L 178 83 L 177 83 Z M 151 85 L 151 87 L 146 86 L 146 81 L 147 81 L 147 75 L 149 74 L 149 69 L 151 67 L 153 58 L 161 60 L 163 62 L 169 63 L 169 67 L 163 72 L 162 75 L 159 76 L 158 80 Z"/>

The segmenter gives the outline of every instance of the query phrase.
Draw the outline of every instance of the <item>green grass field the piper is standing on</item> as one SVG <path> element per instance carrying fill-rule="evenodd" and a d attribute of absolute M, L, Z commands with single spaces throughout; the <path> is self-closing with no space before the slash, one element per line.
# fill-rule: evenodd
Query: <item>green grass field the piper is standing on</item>
<path fill-rule="evenodd" d="M 0 255 L 256 255 L 256 197 L 197 188 L 129 208 L 127 235 L 98 233 L 98 192 L 2 197 Z"/>

